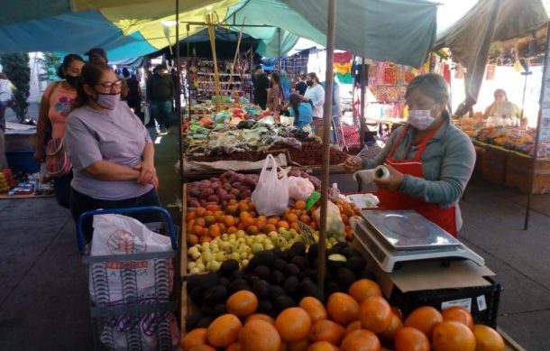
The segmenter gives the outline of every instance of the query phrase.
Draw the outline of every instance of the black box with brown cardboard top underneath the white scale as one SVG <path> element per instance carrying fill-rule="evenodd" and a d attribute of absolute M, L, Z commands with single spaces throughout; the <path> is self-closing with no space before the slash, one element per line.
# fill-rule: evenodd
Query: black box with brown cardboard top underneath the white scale
<path fill-rule="evenodd" d="M 353 246 L 367 260 L 384 296 L 404 316 L 421 306 L 439 310 L 463 306 L 472 313 L 474 323 L 496 328 L 501 288 L 490 279 L 494 272 L 486 266 L 471 261 L 451 261 L 443 266 L 441 260 L 433 260 L 405 263 L 387 273 L 361 245 L 354 242 Z"/>

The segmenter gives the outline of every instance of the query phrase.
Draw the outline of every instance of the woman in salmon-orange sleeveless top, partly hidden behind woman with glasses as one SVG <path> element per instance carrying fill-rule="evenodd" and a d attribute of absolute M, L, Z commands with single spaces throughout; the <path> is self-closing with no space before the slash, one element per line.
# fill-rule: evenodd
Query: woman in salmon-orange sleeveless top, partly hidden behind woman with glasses
<path fill-rule="evenodd" d="M 65 137 L 65 125 L 71 106 L 77 97 L 78 79 L 83 66 L 84 60 L 80 56 L 76 54 L 65 56 L 58 69 L 58 77 L 63 80 L 50 83 L 42 94 L 36 125 L 36 151 L 34 152 L 34 159 L 37 162 L 46 161 L 44 145 L 47 138 L 46 125 L 48 125 L 48 121 L 51 125 L 51 139 L 60 140 Z M 53 177 L 55 199 L 64 208 L 69 208 L 72 178 L 72 171 L 60 177 Z"/>

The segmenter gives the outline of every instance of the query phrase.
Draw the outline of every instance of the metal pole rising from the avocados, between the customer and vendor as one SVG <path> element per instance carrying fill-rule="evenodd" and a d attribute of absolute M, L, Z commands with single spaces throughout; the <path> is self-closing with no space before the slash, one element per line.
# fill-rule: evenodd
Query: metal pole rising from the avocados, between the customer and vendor
<path fill-rule="evenodd" d="M 333 63 L 336 33 L 336 0 L 328 1 L 328 26 L 326 32 L 325 106 L 323 109 L 323 166 L 321 182 L 321 216 L 319 223 L 319 254 L 317 285 L 325 291 L 326 210 L 328 208 L 328 176 L 330 171 L 330 125 L 332 121 Z"/>

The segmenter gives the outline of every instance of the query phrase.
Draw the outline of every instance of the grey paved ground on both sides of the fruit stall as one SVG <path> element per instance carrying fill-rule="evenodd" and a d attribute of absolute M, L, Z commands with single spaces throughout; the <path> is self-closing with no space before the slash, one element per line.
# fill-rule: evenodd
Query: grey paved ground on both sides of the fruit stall
<path fill-rule="evenodd" d="M 177 136 L 157 145 L 163 205 L 176 200 L 172 165 Z M 335 176 L 340 189 L 356 189 Z M 534 198 L 523 230 L 526 196 L 472 180 L 462 201 L 463 240 L 503 286 L 498 323 L 527 350 L 549 350 L 550 196 Z M 0 350 L 87 350 L 87 282 L 69 211 L 54 199 L 0 200 Z"/>

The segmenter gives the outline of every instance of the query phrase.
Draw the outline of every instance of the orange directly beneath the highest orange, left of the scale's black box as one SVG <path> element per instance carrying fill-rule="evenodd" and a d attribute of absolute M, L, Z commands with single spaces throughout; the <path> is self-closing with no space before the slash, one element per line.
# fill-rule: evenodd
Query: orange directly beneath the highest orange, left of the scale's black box
<path fill-rule="evenodd" d="M 362 301 L 359 308 L 359 318 L 362 328 L 379 334 L 390 327 L 391 312 L 390 304 L 381 296 L 371 296 Z"/>

